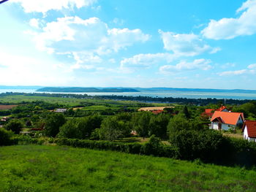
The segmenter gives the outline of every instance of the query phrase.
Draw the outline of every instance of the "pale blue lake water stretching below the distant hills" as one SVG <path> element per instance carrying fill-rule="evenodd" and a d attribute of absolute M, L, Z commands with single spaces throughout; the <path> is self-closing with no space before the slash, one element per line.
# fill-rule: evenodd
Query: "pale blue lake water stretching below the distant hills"
<path fill-rule="evenodd" d="M 16 92 L 16 93 L 42 93 L 35 89 L 0 89 L 0 93 Z M 45 92 L 53 93 L 53 92 Z M 75 94 L 75 93 L 74 93 Z M 84 93 L 76 93 L 84 94 Z M 143 91 L 143 92 L 129 92 L 129 93 L 86 93 L 89 96 L 151 96 L 151 97 L 182 97 L 189 99 L 256 99 L 256 93 L 228 93 L 228 92 L 197 92 L 197 91 Z"/>

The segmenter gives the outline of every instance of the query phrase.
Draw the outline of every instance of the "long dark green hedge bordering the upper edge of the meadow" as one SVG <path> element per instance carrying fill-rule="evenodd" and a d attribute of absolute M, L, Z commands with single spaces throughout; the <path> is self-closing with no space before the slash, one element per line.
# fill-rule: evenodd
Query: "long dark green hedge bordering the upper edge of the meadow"
<path fill-rule="evenodd" d="M 218 147 L 214 150 L 212 146 L 201 147 L 205 143 L 184 143 L 182 146 L 172 147 L 171 145 L 163 145 L 157 137 L 151 137 L 149 142 L 145 145 L 140 143 L 123 143 L 123 142 L 108 142 L 108 141 L 94 141 L 82 139 L 33 139 L 31 137 L 18 137 L 19 144 L 37 144 L 56 143 L 56 145 L 67 145 L 72 147 L 83 147 L 97 150 L 114 150 L 124 153 L 140 154 L 140 155 L 154 155 L 167 158 L 178 158 L 185 160 L 200 159 L 201 161 L 214 164 L 222 164 L 228 166 L 255 166 L 256 165 L 256 143 L 248 142 L 243 139 L 231 139 L 222 137 Z M 17 142 L 16 142 L 17 143 Z M 186 145 L 187 146 L 187 151 Z M 198 145 L 198 146 L 197 146 Z"/>

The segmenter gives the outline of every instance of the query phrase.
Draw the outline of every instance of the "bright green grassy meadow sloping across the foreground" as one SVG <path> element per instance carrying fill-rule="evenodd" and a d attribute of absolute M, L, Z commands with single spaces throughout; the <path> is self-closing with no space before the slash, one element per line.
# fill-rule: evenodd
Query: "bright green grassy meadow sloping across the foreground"
<path fill-rule="evenodd" d="M 256 172 L 59 146 L 0 147 L 0 191 L 255 191 Z"/>

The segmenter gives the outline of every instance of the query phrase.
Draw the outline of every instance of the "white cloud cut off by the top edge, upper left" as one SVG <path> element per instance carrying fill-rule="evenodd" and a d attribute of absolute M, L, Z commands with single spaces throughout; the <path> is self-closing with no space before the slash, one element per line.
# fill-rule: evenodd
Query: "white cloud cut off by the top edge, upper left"
<path fill-rule="evenodd" d="M 72 9 L 77 7 L 87 7 L 94 4 L 97 0 L 12 0 L 20 3 L 25 12 L 42 12 L 49 10 Z"/>

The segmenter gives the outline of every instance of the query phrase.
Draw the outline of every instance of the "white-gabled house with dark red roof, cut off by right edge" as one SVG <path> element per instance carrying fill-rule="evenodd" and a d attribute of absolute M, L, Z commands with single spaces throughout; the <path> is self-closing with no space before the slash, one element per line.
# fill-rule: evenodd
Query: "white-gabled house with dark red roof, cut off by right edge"
<path fill-rule="evenodd" d="M 244 139 L 256 142 L 256 120 L 246 120 L 243 126 Z"/>

